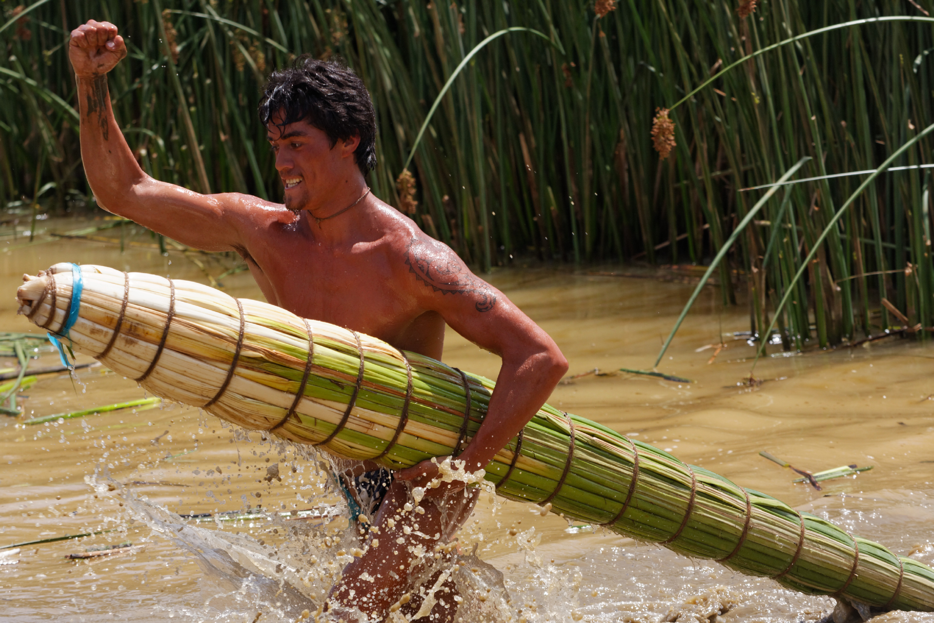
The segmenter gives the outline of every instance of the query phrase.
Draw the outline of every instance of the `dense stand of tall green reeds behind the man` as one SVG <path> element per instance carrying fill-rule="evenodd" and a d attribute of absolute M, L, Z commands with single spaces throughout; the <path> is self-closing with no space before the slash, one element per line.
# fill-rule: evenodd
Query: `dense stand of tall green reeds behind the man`
<path fill-rule="evenodd" d="M 661 159 L 657 109 L 744 54 L 844 21 L 934 11 L 934 0 L 756 4 L 619 0 L 606 12 L 611 0 L 4 0 L 0 196 L 7 212 L 27 216 L 91 205 L 67 34 L 93 18 L 127 39 L 110 90 L 153 177 L 277 199 L 255 112 L 262 83 L 299 54 L 340 55 L 373 94 L 375 194 L 479 269 L 530 257 L 706 263 L 765 192 L 743 189 L 803 156 L 812 160 L 799 179 L 875 169 L 934 122 L 934 25 L 866 23 L 718 78 L 672 110 L 675 145 Z M 410 195 L 397 178 L 446 79 L 478 42 L 516 26 L 545 36 L 502 35 L 460 73 L 409 166 Z M 925 137 L 894 164 L 934 163 L 931 148 Z M 934 326 L 930 169 L 877 177 L 791 284 L 865 178 L 782 187 L 739 236 L 719 282 L 725 303 L 738 293 L 748 301 L 754 334 L 788 288 L 773 338 L 785 348 Z"/>

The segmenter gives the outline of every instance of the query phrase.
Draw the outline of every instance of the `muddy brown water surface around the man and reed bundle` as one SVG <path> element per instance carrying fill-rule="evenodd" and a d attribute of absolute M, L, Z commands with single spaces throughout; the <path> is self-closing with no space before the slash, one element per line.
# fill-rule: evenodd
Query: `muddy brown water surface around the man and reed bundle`
<path fill-rule="evenodd" d="M 6 247 L 0 249 L 2 331 L 35 330 L 16 317 L 13 295 L 22 273 L 55 262 L 206 282 L 205 273 L 174 250 L 165 257 L 154 248 L 121 253 L 115 245 L 86 241 L 0 245 Z M 210 271 L 211 260 L 205 262 Z M 502 270 L 489 279 L 555 338 L 574 374 L 650 367 L 692 289 L 542 268 Z M 247 273 L 221 283 L 236 296 L 262 298 Z M 725 310 L 717 290 L 708 289 L 660 366 L 694 383 L 589 375 L 560 385 L 549 402 L 828 517 L 900 555 L 913 552 L 934 562 L 934 347 L 892 339 L 776 355 L 759 361 L 755 374 L 765 382 L 750 388 L 743 378 L 754 349 L 743 339 L 723 337 L 727 347 L 713 363 L 714 348 L 698 351 L 746 329 L 744 309 Z M 58 361 L 48 348 L 33 354 L 35 365 Z M 444 359 L 490 378 L 499 368 L 495 356 L 453 332 Z M 14 365 L 0 361 L 0 367 Z M 133 381 L 97 366 L 74 378 L 40 377 L 21 391 L 20 403 L 35 417 L 144 397 Z M 0 549 L 0 620 L 294 621 L 304 609 L 314 613 L 347 559 L 337 557 L 347 546 L 340 541 L 346 525 L 340 517 L 178 517 L 245 509 L 339 511 L 339 499 L 314 462 L 296 457 L 295 448 L 236 432 L 179 405 L 39 426 L 21 419 L 0 415 L 0 546 L 106 532 L 21 546 L 18 553 Z M 761 458 L 761 450 L 811 471 L 850 463 L 873 469 L 826 481 L 817 491 L 794 484 L 795 474 Z M 267 477 L 276 464 L 281 481 Z M 308 542 L 317 548 L 297 547 L 287 536 L 299 524 L 322 539 Z M 126 542 L 145 547 L 64 559 Z M 808 621 L 828 616 L 833 607 L 829 598 L 800 595 L 560 517 L 540 517 L 531 505 L 493 503 L 486 494 L 460 542 L 465 553 L 475 544 L 476 555 L 503 573 L 511 599 L 496 612 L 490 602 L 463 607 L 465 622 Z M 296 588 L 282 579 L 288 575 L 283 566 L 290 565 L 324 571 Z M 934 616 L 889 613 L 874 620 Z"/>

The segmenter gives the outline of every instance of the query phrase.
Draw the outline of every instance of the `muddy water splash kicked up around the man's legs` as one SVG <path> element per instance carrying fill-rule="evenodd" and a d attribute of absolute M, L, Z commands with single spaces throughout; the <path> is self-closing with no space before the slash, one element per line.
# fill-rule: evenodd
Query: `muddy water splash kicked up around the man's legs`
<path fill-rule="evenodd" d="M 305 464 L 314 465 L 315 476 L 323 475 L 318 474 L 325 467 L 321 462 Z M 464 474 L 462 464 L 452 467 L 449 461 L 446 461 L 442 474 L 439 480 L 446 477 L 482 479 L 482 474 Z M 320 623 L 331 620 L 369 623 L 366 616 L 356 609 L 331 608 L 330 614 L 323 612 L 328 592 L 339 580 L 341 570 L 354 555 L 361 553 L 357 531 L 349 530 L 346 518 L 335 517 L 336 513 L 317 520 L 295 520 L 285 514 L 252 515 L 249 517 L 253 518 L 241 521 L 241 525 L 259 530 L 248 534 L 234 532 L 231 526 L 221 525 L 219 520 L 192 525 L 191 520 L 138 495 L 131 488 L 124 488 L 104 471 L 89 475 L 86 482 L 98 495 L 112 495 L 123 501 L 122 515 L 109 517 L 110 526 L 119 531 L 125 530 L 129 524 L 141 522 L 149 527 L 150 538 L 161 537 L 171 542 L 197 563 L 201 571 L 198 581 L 200 604 L 170 603 L 157 607 L 163 616 L 191 622 L 250 623 L 262 613 L 262 621 L 294 622 L 307 618 Z M 319 491 L 318 496 L 309 501 L 322 503 L 329 495 L 333 495 L 331 488 Z M 482 533 L 477 534 L 482 537 Z M 452 582 L 457 588 L 455 620 L 460 623 L 573 620 L 562 616 L 562 612 L 571 612 L 569 607 L 574 604 L 567 598 L 579 588 L 580 573 L 569 575 L 544 565 L 535 553 L 539 539 L 534 529 L 522 532 L 517 536 L 516 547 L 526 556 L 528 572 L 538 576 L 538 588 L 534 589 L 536 594 L 550 593 L 548 606 L 543 610 L 531 612 L 524 606 L 531 595 L 528 588 L 523 588 L 525 594 L 521 600 L 511 597 L 503 574 L 476 555 L 478 540 L 470 553 L 465 551 L 470 544 L 463 542 L 460 547 L 455 545 L 456 549 L 449 557 L 434 559 L 432 552 L 423 552 L 421 558 L 425 564 L 420 565 L 410 578 L 412 592 L 422 600 L 418 612 L 406 616 L 397 608 L 389 613 L 387 620 L 410 623 L 425 616 L 446 593 L 443 590 L 446 582 Z M 545 602 L 544 595 L 531 599 Z"/>

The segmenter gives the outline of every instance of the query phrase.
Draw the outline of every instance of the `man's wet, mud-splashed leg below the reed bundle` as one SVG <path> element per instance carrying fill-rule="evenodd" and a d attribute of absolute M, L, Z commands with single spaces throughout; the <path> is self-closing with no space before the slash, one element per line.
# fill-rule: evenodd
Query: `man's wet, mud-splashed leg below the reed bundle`
<path fill-rule="evenodd" d="M 412 576 L 446 557 L 442 547 L 470 517 L 477 493 L 476 489 L 465 488 L 441 503 L 423 500 L 416 505 L 408 486 L 393 482 L 376 514 L 375 529 L 366 537 L 365 553 L 347 565 L 331 591 L 329 603 L 356 607 L 370 616 L 386 616 L 389 607 L 403 599 Z M 406 504 L 410 510 L 406 510 Z M 432 588 L 436 580 L 432 577 L 426 583 L 427 588 Z M 456 609 L 453 583 L 444 585 L 439 590 L 444 594 L 436 596 L 441 600 L 432 612 L 453 615 Z M 442 616 L 440 620 L 445 619 Z"/>

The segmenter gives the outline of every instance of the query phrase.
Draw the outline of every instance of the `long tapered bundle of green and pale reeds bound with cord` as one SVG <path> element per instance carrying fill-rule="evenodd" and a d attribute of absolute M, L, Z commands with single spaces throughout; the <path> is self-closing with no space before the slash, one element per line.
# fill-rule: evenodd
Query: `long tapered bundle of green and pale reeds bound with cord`
<path fill-rule="evenodd" d="M 402 469 L 457 455 L 493 382 L 191 281 L 60 263 L 24 276 L 20 313 L 157 396 L 250 430 Z M 786 588 L 934 610 L 934 570 L 545 404 L 486 468 L 506 498 Z"/>

